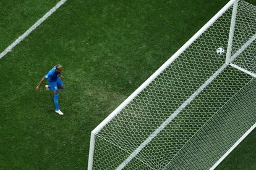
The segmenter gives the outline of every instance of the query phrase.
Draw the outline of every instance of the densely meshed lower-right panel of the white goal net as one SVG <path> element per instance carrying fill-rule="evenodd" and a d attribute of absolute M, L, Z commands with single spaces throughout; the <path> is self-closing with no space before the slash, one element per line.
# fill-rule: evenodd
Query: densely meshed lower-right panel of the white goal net
<path fill-rule="evenodd" d="M 254 125 L 255 106 L 256 81 L 252 79 L 216 111 L 165 169 L 209 169 L 209 165 L 213 165 Z"/>

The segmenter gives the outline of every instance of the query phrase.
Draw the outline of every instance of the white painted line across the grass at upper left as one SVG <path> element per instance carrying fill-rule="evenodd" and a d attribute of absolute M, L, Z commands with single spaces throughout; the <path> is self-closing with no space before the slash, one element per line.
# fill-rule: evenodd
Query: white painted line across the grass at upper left
<path fill-rule="evenodd" d="M 41 23 L 43 23 L 53 12 L 55 12 L 59 7 L 62 6 L 67 0 L 59 1 L 56 6 L 49 10 L 43 17 L 41 17 L 34 25 L 32 25 L 25 33 L 23 33 L 19 38 L 17 38 L 10 46 L 8 46 L 4 51 L 0 53 L 0 59 L 4 57 L 8 52 L 10 52 L 17 44 L 19 44 L 24 38 L 26 38 L 33 30 L 35 30 Z"/>

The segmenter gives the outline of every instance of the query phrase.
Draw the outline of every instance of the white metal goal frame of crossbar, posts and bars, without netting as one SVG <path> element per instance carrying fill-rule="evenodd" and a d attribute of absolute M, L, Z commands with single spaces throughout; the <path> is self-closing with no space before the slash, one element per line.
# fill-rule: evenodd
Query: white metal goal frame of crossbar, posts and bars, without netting
<path fill-rule="evenodd" d="M 214 17 L 212 17 L 199 31 L 197 31 L 197 33 L 194 34 L 194 36 L 192 36 L 192 38 L 189 39 L 189 41 L 187 41 L 176 53 L 173 54 L 173 56 L 171 56 L 163 65 L 161 65 L 160 68 L 158 68 L 158 70 L 155 71 L 155 73 L 153 73 L 153 75 L 150 76 L 150 78 L 148 78 L 138 89 L 136 89 L 126 100 L 124 100 L 124 102 L 121 103 L 121 105 L 119 105 L 119 107 L 117 107 L 106 119 L 104 119 L 95 129 L 93 129 L 92 133 L 91 133 L 91 139 L 90 139 L 90 151 L 89 151 L 89 158 L 88 158 L 88 169 L 91 170 L 93 169 L 93 155 L 94 155 L 94 150 L 95 150 L 95 137 L 96 134 L 98 134 L 98 132 L 106 125 L 109 123 L 109 121 L 111 121 L 111 119 L 114 118 L 114 116 L 116 116 L 124 107 L 126 107 L 126 105 L 128 103 L 130 103 L 138 94 L 140 94 L 140 92 L 143 91 L 143 89 L 145 89 L 145 87 L 148 86 L 148 84 L 150 84 L 158 75 L 160 75 L 160 73 L 163 72 L 163 70 L 165 70 L 171 63 L 173 63 L 174 60 L 177 59 L 177 57 L 179 57 L 179 55 L 182 54 L 182 52 L 186 51 L 187 47 L 189 47 L 192 42 L 194 42 L 199 36 L 201 36 L 213 23 L 215 23 L 215 21 L 221 17 L 221 15 L 224 14 L 224 12 L 226 12 L 226 10 L 228 10 L 231 6 L 233 6 L 233 14 L 232 14 L 232 18 L 231 18 L 231 28 L 229 30 L 229 40 L 228 40 L 228 49 L 226 52 L 226 63 L 223 64 L 223 67 L 221 67 L 219 69 L 219 71 L 223 71 L 224 68 L 228 67 L 229 65 L 231 67 L 234 67 L 238 70 L 243 71 L 244 73 L 247 73 L 247 70 L 242 70 L 242 68 L 240 67 L 236 67 L 234 66 L 233 63 L 231 63 L 239 54 L 241 54 L 242 51 L 237 51 L 236 54 L 234 54 L 233 56 L 231 56 L 231 50 L 232 50 L 232 42 L 233 42 L 233 36 L 234 36 L 234 28 L 235 28 L 235 24 L 236 24 L 236 14 L 237 14 L 237 3 L 239 0 L 231 0 L 229 1 L 216 15 L 214 15 Z M 253 37 L 254 39 L 252 41 L 254 41 L 256 39 L 256 34 Z M 250 45 L 251 42 L 245 43 L 244 44 L 244 49 L 246 47 L 248 47 Z M 241 48 L 242 49 L 242 48 Z M 240 53 L 239 53 L 240 52 Z M 217 72 L 217 71 L 216 71 Z M 216 76 L 218 76 L 219 73 L 216 73 L 215 75 L 213 74 L 213 79 L 215 79 Z M 249 73 L 247 73 L 249 74 Z M 254 78 L 256 78 L 256 75 L 254 73 L 250 73 L 249 75 L 254 76 Z M 210 78 L 209 78 L 210 79 Z M 205 84 L 203 84 L 202 88 L 198 89 L 198 93 L 195 92 L 195 96 L 196 97 L 206 86 L 208 86 L 208 84 L 210 84 L 211 81 L 207 81 L 205 82 Z M 189 100 L 189 99 L 188 99 Z M 192 99 L 193 100 L 193 99 Z M 190 101 L 189 101 L 190 102 Z M 181 107 L 186 107 L 186 105 L 181 106 Z M 183 108 L 182 108 L 183 109 Z M 179 113 L 179 112 L 178 112 Z M 177 114 L 178 114 L 177 113 Z M 229 153 L 232 152 L 232 150 L 234 148 L 236 148 L 236 146 L 243 140 L 245 139 L 245 137 L 255 128 L 256 123 L 254 124 L 254 126 L 252 126 L 239 140 L 237 140 L 236 144 L 233 145 L 233 147 L 231 147 L 228 152 L 226 152 L 225 155 L 223 155 L 223 157 L 221 157 L 220 160 L 218 160 L 213 167 L 211 167 L 211 169 L 215 169 L 216 166 L 218 166 L 218 164 L 221 163 L 221 161 L 224 160 L 224 158 L 226 158 L 226 156 L 228 156 Z M 149 140 L 150 142 L 150 140 Z M 147 145 L 147 144 L 146 144 Z M 142 147 L 143 148 L 143 147 Z M 141 148 L 141 149 L 142 149 Z M 140 150 L 135 150 L 134 152 L 140 152 Z M 129 163 L 130 160 L 132 160 L 132 158 L 134 158 L 137 154 L 131 154 L 131 158 L 127 158 L 128 161 L 124 161 L 122 164 L 120 164 L 120 166 L 117 169 L 122 169 L 124 168 L 124 166 L 126 166 L 127 163 Z M 130 157 L 129 156 L 129 157 Z"/>

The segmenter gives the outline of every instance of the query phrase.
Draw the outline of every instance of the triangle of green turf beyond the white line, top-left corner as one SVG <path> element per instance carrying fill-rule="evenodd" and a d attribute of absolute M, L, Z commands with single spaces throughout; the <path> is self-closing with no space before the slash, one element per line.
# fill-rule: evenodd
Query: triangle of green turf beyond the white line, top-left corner
<path fill-rule="evenodd" d="M 0 51 L 28 30 L 58 0 L 0 1 Z"/>

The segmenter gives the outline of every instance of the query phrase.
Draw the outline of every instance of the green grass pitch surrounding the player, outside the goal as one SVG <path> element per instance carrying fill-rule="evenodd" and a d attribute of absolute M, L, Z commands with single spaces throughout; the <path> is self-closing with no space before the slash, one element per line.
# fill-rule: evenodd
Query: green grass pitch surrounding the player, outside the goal
<path fill-rule="evenodd" d="M 56 2 L 0 1 L 0 51 Z M 87 169 L 90 132 L 226 2 L 67 0 L 0 59 L 0 169 Z M 35 92 L 56 63 L 64 116 L 51 92 Z M 256 169 L 255 140 L 217 169 Z"/>

